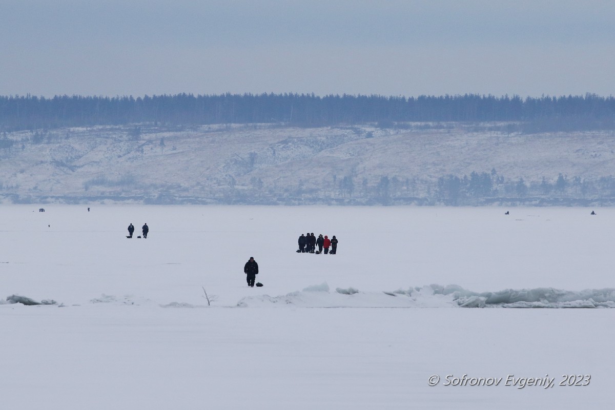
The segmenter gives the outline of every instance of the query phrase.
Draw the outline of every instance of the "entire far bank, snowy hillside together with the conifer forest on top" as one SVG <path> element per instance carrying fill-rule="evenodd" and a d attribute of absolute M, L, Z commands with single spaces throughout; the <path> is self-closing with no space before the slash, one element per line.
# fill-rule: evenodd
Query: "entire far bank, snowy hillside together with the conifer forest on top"
<path fill-rule="evenodd" d="M 613 135 L 594 94 L 0 96 L 0 200 L 612 205 Z"/>

